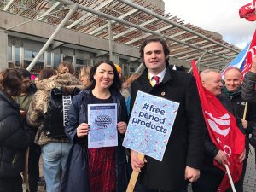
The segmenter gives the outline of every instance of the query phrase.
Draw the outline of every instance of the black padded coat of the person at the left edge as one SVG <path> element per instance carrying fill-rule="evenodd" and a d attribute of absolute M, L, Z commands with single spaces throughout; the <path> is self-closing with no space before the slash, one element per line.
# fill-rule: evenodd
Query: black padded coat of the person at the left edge
<path fill-rule="evenodd" d="M 20 175 L 30 140 L 23 129 L 19 106 L 0 90 L 0 177 Z"/>

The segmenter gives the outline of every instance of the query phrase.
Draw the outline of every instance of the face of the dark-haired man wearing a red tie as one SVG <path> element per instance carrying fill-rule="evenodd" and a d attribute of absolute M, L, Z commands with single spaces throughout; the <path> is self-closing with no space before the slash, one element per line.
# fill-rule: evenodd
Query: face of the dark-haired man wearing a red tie
<path fill-rule="evenodd" d="M 158 74 L 166 67 L 166 56 L 160 42 L 150 42 L 144 47 L 144 63 L 149 73 Z"/>

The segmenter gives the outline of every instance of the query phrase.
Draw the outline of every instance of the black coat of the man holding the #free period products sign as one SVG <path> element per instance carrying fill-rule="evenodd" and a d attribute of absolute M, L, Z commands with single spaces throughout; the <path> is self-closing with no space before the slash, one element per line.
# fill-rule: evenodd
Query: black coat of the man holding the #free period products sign
<path fill-rule="evenodd" d="M 160 162 L 147 156 L 148 162 L 140 173 L 140 183 L 148 189 L 181 189 L 187 183 L 184 180 L 185 167 L 201 169 L 203 161 L 206 125 L 195 79 L 189 73 L 167 67 L 163 81 L 152 87 L 146 68 L 131 84 L 131 108 L 137 90 L 180 103 L 163 160 Z"/>

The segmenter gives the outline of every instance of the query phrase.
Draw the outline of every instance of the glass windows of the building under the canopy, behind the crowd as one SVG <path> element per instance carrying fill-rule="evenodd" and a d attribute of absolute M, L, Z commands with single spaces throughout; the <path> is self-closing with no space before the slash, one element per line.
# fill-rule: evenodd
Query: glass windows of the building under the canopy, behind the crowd
<path fill-rule="evenodd" d="M 44 45 L 41 42 L 36 42 L 25 38 L 15 38 L 11 36 L 9 36 L 8 41 L 7 50 L 9 67 L 17 68 L 28 67 Z M 97 58 L 97 60 L 98 59 L 99 58 Z M 73 63 L 75 73 L 78 74 L 81 67 L 90 66 L 95 63 L 96 60 L 94 59 L 94 54 L 90 52 L 63 46 L 54 50 L 45 51 L 35 66 L 32 68 L 31 72 L 38 74 L 44 67 L 54 67 L 56 69 L 61 61 Z M 125 60 L 120 59 L 119 61 L 121 63 L 125 63 Z M 130 68 L 130 65 L 125 65 L 123 70 L 124 73 L 129 74 L 133 73 L 135 69 L 136 67 L 134 66 Z"/>

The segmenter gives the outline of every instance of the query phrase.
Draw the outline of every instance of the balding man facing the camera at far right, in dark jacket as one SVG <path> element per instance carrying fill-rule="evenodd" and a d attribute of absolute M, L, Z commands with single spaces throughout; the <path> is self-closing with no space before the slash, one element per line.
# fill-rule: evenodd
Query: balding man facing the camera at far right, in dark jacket
<path fill-rule="evenodd" d="M 241 99 L 241 71 L 236 68 L 229 68 L 224 73 L 224 88 L 223 91 L 225 96 L 230 99 L 232 106 L 234 108 L 234 113 L 237 119 L 243 117 L 245 102 Z M 249 154 L 249 134 L 252 133 L 253 126 L 256 125 L 254 122 L 256 120 L 255 106 L 250 104 L 247 107 L 247 120 L 242 120 L 242 126 L 246 133 L 246 159 L 243 161 L 242 174 L 239 182 L 236 183 L 236 191 L 243 191 L 243 180 L 247 169 L 247 157 Z"/>

